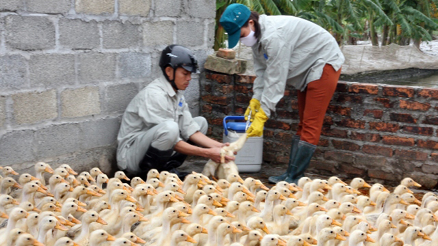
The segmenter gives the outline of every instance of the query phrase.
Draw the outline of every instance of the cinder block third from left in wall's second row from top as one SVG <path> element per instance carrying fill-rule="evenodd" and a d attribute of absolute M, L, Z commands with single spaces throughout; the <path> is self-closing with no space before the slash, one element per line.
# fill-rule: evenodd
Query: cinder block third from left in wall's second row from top
<path fill-rule="evenodd" d="M 140 25 L 107 21 L 103 23 L 103 47 L 107 49 L 138 47 L 142 40 L 141 32 Z"/>

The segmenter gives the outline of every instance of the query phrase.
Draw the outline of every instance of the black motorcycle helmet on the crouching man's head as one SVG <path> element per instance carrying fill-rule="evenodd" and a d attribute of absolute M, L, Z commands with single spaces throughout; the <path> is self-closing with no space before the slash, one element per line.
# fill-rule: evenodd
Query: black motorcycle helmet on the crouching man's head
<path fill-rule="evenodd" d="M 170 80 L 166 74 L 166 67 L 171 66 L 173 68 L 173 79 Z M 175 72 L 178 67 L 184 68 L 189 72 L 198 72 L 198 61 L 196 61 L 196 57 L 190 49 L 185 48 L 184 46 L 172 44 L 167 46 L 162 51 L 162 57 L 159 59 L 159 67 L 162 68 L 164 77 L 170 82 L 170 85 L 175 90 L 178 90 L 177 85 L 175 84 Z"/>

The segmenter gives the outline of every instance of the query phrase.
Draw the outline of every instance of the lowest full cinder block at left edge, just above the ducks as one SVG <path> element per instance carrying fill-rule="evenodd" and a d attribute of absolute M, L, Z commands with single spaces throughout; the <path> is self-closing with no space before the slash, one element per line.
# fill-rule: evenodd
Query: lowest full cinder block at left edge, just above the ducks
<path fill-rule="evenodd" d="M 12 131 L 0 135 L 1 165 L 34 161 L 34 131 Z"/>

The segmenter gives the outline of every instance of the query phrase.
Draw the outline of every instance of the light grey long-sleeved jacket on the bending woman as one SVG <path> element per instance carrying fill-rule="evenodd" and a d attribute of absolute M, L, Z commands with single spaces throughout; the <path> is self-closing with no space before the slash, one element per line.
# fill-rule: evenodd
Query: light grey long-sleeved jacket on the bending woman
<path fill-rule="evenodd" d="M 339 70 L 344 55 L 331 34 L 295 16 L 259 16 L 260 42 L 253 46 L 254 96 L 270 117 L 283 97 L 286 83 L 297 90 L 321 78 L 325 64 Z"/>

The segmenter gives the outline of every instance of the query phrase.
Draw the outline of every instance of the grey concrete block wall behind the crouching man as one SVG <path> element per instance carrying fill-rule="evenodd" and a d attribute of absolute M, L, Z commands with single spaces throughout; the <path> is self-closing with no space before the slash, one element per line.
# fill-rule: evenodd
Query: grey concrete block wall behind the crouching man
<path fill-rule="evenodd" d="M 0 165 L 112 171 L 121 115 L 168 44 L 213 52 L 214 0 L 0 1 Z M 185 96 L 199 112 L 199 74 Z"/>

